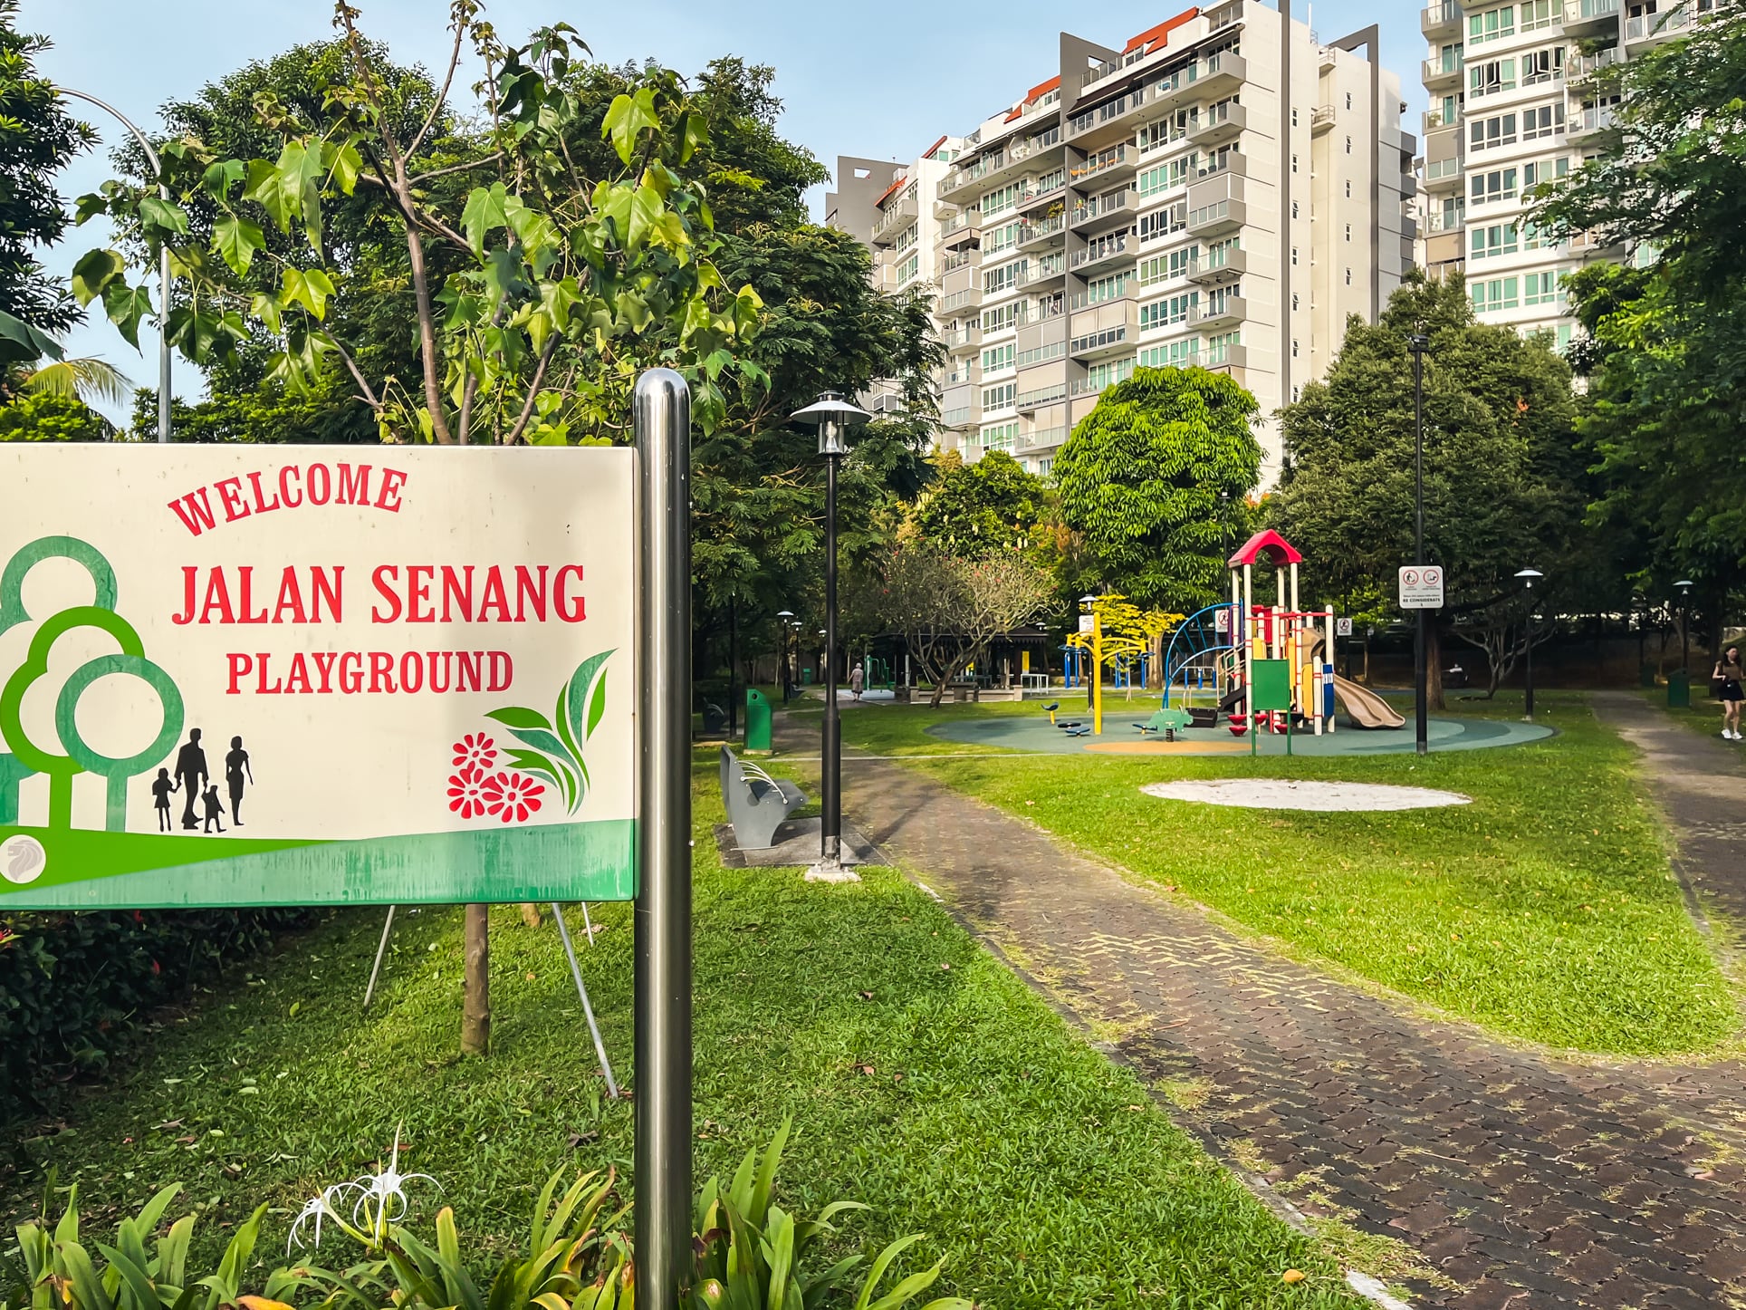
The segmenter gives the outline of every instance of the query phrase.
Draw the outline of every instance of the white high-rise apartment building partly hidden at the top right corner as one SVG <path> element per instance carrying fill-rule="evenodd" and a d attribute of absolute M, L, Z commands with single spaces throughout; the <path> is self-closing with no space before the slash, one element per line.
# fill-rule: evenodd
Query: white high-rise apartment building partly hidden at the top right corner
<path fill-rule="evenodd" d="M 1570 344 L 1563 278 L 1627 252 L 1580 232 L 1547 241 L 1529 192 L 1580 168 L 1615 131 L 1605 70 L 1683 33 L 1716 0 L 1439 0 L 1428 42 L 1423 262 L 1463 271 L 1479 318 Z"/>

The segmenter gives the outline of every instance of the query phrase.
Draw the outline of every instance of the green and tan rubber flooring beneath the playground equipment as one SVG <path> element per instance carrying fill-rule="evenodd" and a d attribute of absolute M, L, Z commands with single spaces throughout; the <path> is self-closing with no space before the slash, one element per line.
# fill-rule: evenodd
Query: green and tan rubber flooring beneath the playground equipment
<path fill-rule="evenodd" d="M 1002 714 L 999 718 L 967 718 L 950 723 L 936 723 L 927 728 L 934 737 L 969 742 L 974 746 L 997 746 L 1007 751 L 1041 751 L 1049 755 L 1248 755 L 1248 737 L 1233 737 L 1224 727 L 1187 728 L 1177 734 L 1177 741 L 1166 742 L 1163 734 L 1145 734 L 1133 725 L 1144 723 L 1151 716 L 1147 711 L 1123 713 L 1121 704 L 1103 706 L 1102 737 L 1069 737 L 1062 728 L 1049 727 L 1049 716 L 1037 714 Z M 1056 711 L 1058 723 L 1091 723 L 1091 716 L 1079 711 Z M 1479 751 L 1489 746 L 1521 746 L 1523 742 L 1550 737 L 1552 728 L 1542 723 L 1517 723 L 1514 720 L 1453 720 L 1433 718 L 1430 721 L 1430 748 L 1433 751 Z M 1400 728 L 1351 728 L 1341 725 L 1337 732 L 1325 732 L 1316 737 L 1313 732 L 1294 732 L 1290 741 L 1292 755 L 1411 755 L 1416 748 L 1413 721 Z M 1255 755 L 1285 755 L 1285 734 L 1262 734 L 1255 741 Z"/>

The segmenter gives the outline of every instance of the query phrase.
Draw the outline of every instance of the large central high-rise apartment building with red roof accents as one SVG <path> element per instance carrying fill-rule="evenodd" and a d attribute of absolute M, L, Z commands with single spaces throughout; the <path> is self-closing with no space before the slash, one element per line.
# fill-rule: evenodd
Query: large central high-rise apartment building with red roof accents
<path fill-rule="evenodd" d="M 1233 0 L 1121 49 L 1063 33 L 1056 75 L 967 136 L 838 161 L 826 220 L 880 285 L 932 290 L 948 440 L 1048 472 L 1135 367 L 1226 370 L 1264 416 L 1327 369 L 1413 262 L 1402 108 L 1376 28 L 1323 45 L 1289 0 Z"/>

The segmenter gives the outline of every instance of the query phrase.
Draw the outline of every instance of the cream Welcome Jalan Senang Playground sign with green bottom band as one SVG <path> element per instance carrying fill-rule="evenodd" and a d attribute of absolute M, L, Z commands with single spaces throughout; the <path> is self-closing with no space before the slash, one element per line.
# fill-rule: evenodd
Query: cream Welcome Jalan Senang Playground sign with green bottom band
<path fill-rule="evenodd" d="M 632 898 L 634 475 L 0 447 L 0 910 Z"/>

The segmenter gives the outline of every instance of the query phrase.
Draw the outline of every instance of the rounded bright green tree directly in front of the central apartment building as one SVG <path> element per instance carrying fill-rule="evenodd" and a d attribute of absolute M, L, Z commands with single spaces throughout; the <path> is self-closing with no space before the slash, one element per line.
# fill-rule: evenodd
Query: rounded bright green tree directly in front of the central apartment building
<path fill-rule="evenodd" d="M 1261 475 L 1255 398 L 1205 369 L 1137 369 L 1098 396 L 1055 459 L 1086 590 L 1140 606 L 1212 604 Z"/>

